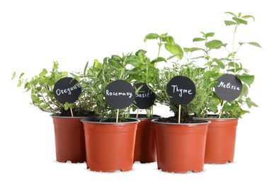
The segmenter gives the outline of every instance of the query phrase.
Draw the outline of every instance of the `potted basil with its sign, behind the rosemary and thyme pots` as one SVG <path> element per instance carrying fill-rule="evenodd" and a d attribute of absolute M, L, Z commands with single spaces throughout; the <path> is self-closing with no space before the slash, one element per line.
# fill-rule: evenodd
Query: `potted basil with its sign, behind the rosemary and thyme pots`
<path fill-rule="evenodd" d="M 164 58 L 150 60 L 146 55 L 147 51 L 138 50 L 135 53 L 136 62 L 131 76 L 131 81 L 138 93 L 131 105 L 131 117 L 140 120 L 137 125 L 135 139 L 135 161 L 140 163 L 150 163 L 156 161 L 156 144 L 154 134 L 154 124 L 152 120 L 159 115 L 154 115 L 154 106 L 156 96 L 153 93 L 150 84 L 159 76 L 159 69 L 156 63 L 164 61 Z M 145 111 L 145 113 L 140 113 Z M 137 112 L 137 113 L 134 113 Z"/>

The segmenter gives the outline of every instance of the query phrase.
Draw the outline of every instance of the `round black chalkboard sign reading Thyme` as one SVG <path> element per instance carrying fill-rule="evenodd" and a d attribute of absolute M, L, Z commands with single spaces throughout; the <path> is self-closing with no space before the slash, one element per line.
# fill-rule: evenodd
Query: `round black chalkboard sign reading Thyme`
<path fill-rule="evenodd" d="M 196 88 L 188 77 L 174 76 L 167 84 L 167 92 L 173 103 L 186 105 L 195 97 Z"/>

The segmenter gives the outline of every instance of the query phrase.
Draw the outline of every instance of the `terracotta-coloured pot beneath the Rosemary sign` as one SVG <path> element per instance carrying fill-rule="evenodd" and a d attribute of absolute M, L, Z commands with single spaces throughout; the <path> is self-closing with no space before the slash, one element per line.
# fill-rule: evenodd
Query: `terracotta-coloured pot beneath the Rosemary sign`
<path fill-rule="evenodd" d="M 86 140 L 86 166 L 91 171 L 130 171 L 134 163 L 137 123 L 96 122 L 91 118 L 81 120 Z"/>

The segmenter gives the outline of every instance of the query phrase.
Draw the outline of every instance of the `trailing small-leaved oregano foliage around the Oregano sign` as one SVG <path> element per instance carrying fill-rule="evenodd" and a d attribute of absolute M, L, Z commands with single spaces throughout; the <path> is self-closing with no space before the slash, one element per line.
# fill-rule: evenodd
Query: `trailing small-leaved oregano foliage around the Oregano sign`
<path fill-rule="evenodd" d="M 42 69 L 40 74 L 33 76 L 31 79 L 24 79 L 24 73 L 18 76 L 18 87 L 23 87 L 25 91 L 30 92 L 32 105 L 40 110 L 53 115 L 71 116 L 70 108 L 72 108 L 74 116 L 86 116 L 93 114 L 92 105 L 89 104 L 89 94 L 82 93 L 75 103 L 59 103 L 54 96 L 53 88 L 55 83 L 68 76 L 67 71 L 59 71 L 58 62 L 53 62 L 52 70 Z M 74 75 L 76 76 L 76 75 Z M 16 72 L 13 72 L 12 80 L 16 78 Z M 24 85 L 24 86 L 22 86 Z"/>

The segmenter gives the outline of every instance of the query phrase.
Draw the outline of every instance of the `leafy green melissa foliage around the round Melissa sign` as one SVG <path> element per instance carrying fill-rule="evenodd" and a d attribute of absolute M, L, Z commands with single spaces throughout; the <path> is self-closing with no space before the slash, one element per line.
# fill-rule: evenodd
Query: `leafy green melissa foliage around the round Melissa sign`
<path fill-rule="evenodd" d="M 232 42 L 230 44 L 215 39 L 215 33 L 213 32 L 201 32 L 202 36 L 194 38 L 193 42 L 201 42 L 204 44 L 204 47 L 195 47 L 195 51 L 202 51 L 202 55 L 198 54 L 198 57 L 195 57 L 195 59 L 204 59 L 206 73 L 212 80 L 209 86 L 211 88 L 211 93 L 209 94 L 210 99 L 207 101 L 207 109 L 204 114 L 214 113 L 219 115 L 219 117 L 238 118 L 249 113 L 248 108 L 258 107 L 249 97 L 249 90 L 255 76 L 249 74 L 249 70 L 241 63 L 238 54 L 244 45 L 255 47 L 261 47 L 261 45 L 259 45 L 258 42 L 236 42 L 236 40 L 238 40 L 236 39 L 237 30 L 239 30 L 240 26 L 247 25 L 250 19 L 255 21 L 253 16 L 243 16 L 241 13 L 226 13 L 231 18 L 228 21 L 224 21 L 225 25 L 232 28 Z M 218 56 L 220 53 L 223 55 L 222 57 Z M 223 74 L 234 74 L 242 82 L 241 95 L 235 100 L 221 100 L 214 91 L 217 79 Z"/>

